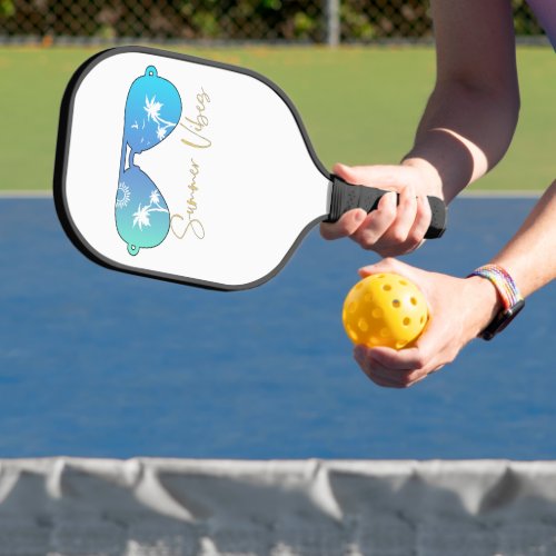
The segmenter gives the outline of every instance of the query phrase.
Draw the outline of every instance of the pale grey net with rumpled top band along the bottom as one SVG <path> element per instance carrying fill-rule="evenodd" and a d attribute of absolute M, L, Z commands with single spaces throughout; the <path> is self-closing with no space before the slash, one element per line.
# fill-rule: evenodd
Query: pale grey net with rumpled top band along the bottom
<path fill-rule="evenodd" d="M 553 461 L 0 460 L 0 556 L 550 556 Z"/>

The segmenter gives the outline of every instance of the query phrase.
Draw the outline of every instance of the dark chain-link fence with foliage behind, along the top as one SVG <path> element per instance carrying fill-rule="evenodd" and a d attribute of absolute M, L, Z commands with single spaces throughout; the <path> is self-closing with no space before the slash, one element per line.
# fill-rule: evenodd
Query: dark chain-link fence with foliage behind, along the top
<path fill-rule="evenodd" d="M 520 36 L 542 36 L 513 0 Z M 3 41 L 373 42 L 431 36 L 426 0 L 0 0 Z"/>

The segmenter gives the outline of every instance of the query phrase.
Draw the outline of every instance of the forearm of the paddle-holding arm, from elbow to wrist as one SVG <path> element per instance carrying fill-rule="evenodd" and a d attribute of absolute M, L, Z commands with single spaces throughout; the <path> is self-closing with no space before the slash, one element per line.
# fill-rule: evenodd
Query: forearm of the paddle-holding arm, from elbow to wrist
<path fill-rule="evenodd" d="M 428 175 L 436 193 L 449 202 L 505 155 L 517 123 L 517 90 L 480 90 L 438 83 L 404 165 Z"/>

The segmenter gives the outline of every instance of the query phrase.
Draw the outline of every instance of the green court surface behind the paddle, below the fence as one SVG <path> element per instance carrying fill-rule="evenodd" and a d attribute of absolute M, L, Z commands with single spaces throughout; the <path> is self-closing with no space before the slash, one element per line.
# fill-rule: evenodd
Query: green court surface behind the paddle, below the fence
<path fill-rule="evenodd" d="M 327 167 L 335 161 L 397 162 L 411 146 L 435 78 L 434 50 L 424 47 L 187 51 L 246 66 L 276 81 L 299 109 Z M 0 189 L 50 189 L 60 99 L 73 70 L 95 52 L 0 49 Z M 522 48 L 518 63 L 522 115 L 514 143 L 505 160 L 474 188 L 543 189 L 555 177 L 554 52 Z"/>

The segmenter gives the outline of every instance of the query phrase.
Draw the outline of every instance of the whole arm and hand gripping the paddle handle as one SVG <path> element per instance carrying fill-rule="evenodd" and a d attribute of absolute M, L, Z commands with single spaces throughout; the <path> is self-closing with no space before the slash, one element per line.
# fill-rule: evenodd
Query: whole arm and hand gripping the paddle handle
<path fill-rule="evenodd" d="M 378 210 L 321 226 L 326 239 L 351 237 L 383 256 L 415 249 L 430 221 L 423 196 L 449 202 L 506 152 L 519 111 L 509 0 L 431 0 L 437 79 L 415 145 L 398 166 L 335 167 L 353 183 L 400 193 Z M 415 198 L 419 200 L 416 201 Z"/>

